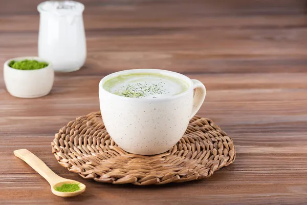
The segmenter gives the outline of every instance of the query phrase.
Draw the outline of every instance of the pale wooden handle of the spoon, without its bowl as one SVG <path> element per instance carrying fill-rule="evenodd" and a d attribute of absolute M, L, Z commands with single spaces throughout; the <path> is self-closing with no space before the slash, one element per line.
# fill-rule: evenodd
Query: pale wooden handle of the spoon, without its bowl
<path fill-rule="evenodd" d="M 54 173 L 47 165 L 35 156 L 32 152 L 27 149 L 15 150 L 14 154 L 16 157 L 24 160 L 30 167 L 32 167 L 38 174 L 45 178 L 51 186 L 55 185 L 58 181 L 63 178 Z"/>

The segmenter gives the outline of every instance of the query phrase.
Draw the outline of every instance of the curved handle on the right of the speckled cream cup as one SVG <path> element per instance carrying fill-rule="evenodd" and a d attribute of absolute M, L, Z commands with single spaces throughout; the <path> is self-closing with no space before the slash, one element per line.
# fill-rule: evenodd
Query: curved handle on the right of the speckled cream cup
<path fill-rule="evenodd" d="M 195 94 L 193 97 L 193 109 L 190 119 L 194 117 L 194 115 L 199 111 L 202 107 L 205 97 L 206 97 L 206 88 L 201 81 L 192 79 L 193 89 L 195 90 Z"/>

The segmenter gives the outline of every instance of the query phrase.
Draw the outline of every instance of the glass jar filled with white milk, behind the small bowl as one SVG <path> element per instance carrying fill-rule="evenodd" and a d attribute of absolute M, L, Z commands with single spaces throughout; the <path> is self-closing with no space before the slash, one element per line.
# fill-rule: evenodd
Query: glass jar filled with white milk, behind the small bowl
<path fill-rule="evenodd" d="M 54 71 L 79 70 L 86 58 L 84 5 L 75 1 L 47 1 L 40 3 L 37 10 L 38 56 L 51 61 Z"/>

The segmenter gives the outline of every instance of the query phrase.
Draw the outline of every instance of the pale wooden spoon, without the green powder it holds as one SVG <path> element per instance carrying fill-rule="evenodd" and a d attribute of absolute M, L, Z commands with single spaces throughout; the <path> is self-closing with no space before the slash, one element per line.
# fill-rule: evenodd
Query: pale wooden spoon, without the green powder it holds
<path fill-rule="evenodd" d="M 60 197 L 73 197 L 79 194 L 82 194 L 85 191 L 85 185 L 75 180 L 65 179 L 54 173 L 47 165 L 35 156 L 32 152 L 26 149 L 15 150 L 14 154 L 16 157 L 24 160 L 30 167 L 32 167 L 38 174 L 45 178 L 50 186 L 53 194 Z M 75 192 L 59 192 L 55 190 L 55 187 L 62 186 L 63 183 L 77 183 L 80 187 L 80 190 Z"/>

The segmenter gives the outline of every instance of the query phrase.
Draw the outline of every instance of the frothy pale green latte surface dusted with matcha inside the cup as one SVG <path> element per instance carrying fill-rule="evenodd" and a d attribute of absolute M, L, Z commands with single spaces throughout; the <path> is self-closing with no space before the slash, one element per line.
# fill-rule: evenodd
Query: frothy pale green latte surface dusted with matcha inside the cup
<path fill-rule="evenodd" d="M 116 95 L 157 98 L 185 92 L 189 85 L 182 79 L 159 73 L 131 73 L 108 79 L 103 88 Z"/>

